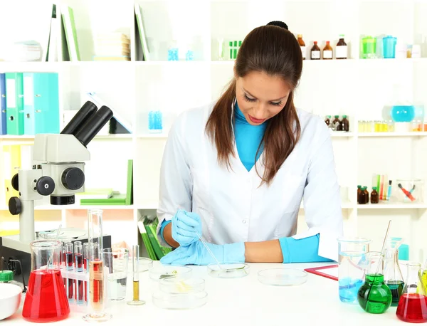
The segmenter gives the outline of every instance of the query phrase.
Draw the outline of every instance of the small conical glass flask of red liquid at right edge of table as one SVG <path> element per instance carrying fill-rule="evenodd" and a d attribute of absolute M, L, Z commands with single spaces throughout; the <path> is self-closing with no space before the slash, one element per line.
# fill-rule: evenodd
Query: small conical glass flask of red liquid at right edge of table
<path fill-rule="evenodd" d="M 421 286 L 418 286 L 420 284 Z M 408 263 L 408 275 L 396 316 L 404 322 L 427 322 L 426 290 L 421 279 L 419 263 Z"/>

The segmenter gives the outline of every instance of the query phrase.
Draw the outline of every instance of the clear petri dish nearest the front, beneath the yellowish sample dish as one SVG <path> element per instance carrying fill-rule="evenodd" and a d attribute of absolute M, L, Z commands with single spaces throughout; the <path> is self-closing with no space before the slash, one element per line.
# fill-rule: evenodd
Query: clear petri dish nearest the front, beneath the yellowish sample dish
<path fill-rule="evenodd" d="M 162 309 L 169 310 L 189 310 L 201 307 L 208 301 L 208 293 L 201 291 L 198 293 L 172 294 L 158 291 L 153 293 L 154 305 Z"/>

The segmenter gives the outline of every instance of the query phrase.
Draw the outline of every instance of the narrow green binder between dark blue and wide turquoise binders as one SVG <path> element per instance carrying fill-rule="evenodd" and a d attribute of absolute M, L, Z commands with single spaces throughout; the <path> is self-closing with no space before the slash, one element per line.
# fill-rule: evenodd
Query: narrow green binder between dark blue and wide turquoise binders
<path fill-rule="evenodd" d="M 6 73 L 6 132 L 23 135 L 22 73 Z"/>

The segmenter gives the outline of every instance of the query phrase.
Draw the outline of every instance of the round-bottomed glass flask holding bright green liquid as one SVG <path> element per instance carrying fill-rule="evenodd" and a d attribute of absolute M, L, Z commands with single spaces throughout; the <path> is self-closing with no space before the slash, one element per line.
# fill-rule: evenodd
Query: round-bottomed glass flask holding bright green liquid
<path fill-rule="evenodd" d="M 389 287 L 384 283 L 384 256 L 379 251 L 367 253 L 369 262 L 365 282 L 359 288 L 357 301 L 366 312 L 381 314 L 391 305 L 392 295 Z"/>

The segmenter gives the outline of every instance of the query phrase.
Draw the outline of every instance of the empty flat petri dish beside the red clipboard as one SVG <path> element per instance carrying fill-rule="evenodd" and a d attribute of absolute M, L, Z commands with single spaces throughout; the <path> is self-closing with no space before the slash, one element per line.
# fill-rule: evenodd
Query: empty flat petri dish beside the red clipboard
<path fill-rule="evenodd" d="M 301 285 L 307 282 L 307 273 L 295 268 L 268 268 L 258 272 L 258 280 L 267 285 Z"/>

